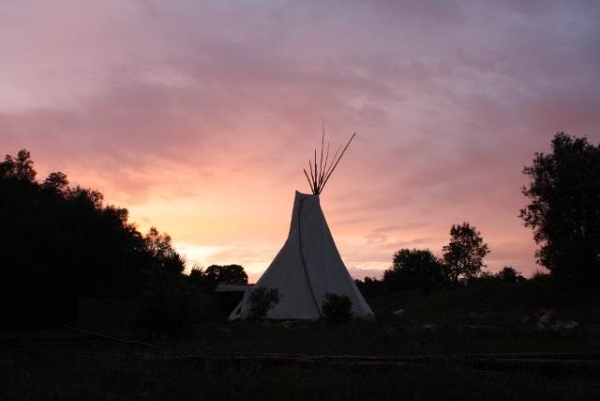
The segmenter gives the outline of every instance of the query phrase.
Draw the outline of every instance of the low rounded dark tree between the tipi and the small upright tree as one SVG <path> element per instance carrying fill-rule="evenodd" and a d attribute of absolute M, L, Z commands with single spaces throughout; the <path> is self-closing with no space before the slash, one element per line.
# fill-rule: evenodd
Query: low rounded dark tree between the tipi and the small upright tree
<path fill-rule="evenodd" d="M 428 291 L 443 278 L 443 264 L 429 249 L 399 250 L 392 267 L 383 274 L 383 282 L 391 292 L 411 288 Z"/>

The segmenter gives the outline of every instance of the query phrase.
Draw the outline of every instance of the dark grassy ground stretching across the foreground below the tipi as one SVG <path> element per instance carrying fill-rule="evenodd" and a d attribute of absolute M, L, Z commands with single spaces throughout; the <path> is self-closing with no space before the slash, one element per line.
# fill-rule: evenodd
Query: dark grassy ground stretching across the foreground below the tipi
<path fill-rule="evenodd" d="M 598 296 L 527 286 L 405 292 L 372 322 L 206 323 L 186 340 L 4 333 L 6 400 L 600 399 Z M 403 308 L 403 319 L 386 312 Z M 558 334 L 522 323 L 552 308 Z"/>

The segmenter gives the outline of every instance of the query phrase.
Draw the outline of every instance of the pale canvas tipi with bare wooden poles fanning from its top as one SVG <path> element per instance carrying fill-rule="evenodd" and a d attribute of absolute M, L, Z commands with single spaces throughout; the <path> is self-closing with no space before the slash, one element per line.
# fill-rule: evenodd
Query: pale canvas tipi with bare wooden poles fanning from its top
<path fill-rule="evenodd" d="M 344 266 L 319 201 L 319 194 L 327 179 L 355 135 L 352 135 L 341 153 L 338 149 L 329 164 L 329 149 L 323 159 L 323 137 L 319 164 L 316 163 L 315 151 L 315 163 L 309 162 L 310 178 L 304 170 L 313 193 L 308 195 L 296 191 L 288 238 L 254 287 L 277 288 L 279 291 L 280 300 L 269 310 L 269 319 L 316 320 L 322 315 L 326 293 L 348 296 L 355 317 L 373 316 Z M 250 291 L 248 289 L 231 312 L 230 320 L 247 317 Z"/>

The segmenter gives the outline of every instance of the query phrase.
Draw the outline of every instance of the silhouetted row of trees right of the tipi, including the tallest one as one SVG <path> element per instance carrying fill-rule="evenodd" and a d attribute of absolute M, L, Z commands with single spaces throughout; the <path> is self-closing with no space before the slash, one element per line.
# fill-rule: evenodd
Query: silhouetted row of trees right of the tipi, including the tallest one
<path fill-rule="evenodd" d="M 600 145 L 563 132 L 551 145 L 551 153 L 536 153 L 533 164 L 523 169 L 529 183 L 521 192 L 530 203 L 519 217 L 533 230 L 539 265 L 557 279 L 594 285 L 600 278 Z M 489 248 L 468 223 L 452 226 L 450 237 L 442 258 L 428 249 L 401 249 L 383 280 L 357 280 L 359 288 L 372 296 L 411 288 L 428 291 L 440 283 L 477 278 L 524 280 L 511 266 L 496 275 L 481 273 Z"/>

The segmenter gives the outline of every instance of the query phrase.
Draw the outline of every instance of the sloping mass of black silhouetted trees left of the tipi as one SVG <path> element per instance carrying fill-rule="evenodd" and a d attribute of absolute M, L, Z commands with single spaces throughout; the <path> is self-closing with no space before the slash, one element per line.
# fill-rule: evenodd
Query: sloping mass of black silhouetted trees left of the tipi
<path fill-rule="evenodd" d="M 3 323 L 72 321 L 78 294 L 133 297 L 152 271 L 183 271 L 168 235 L 142 235 L 127 209 L 61 172 L 36 175 L 26 150 L 0 163 Z"/>

